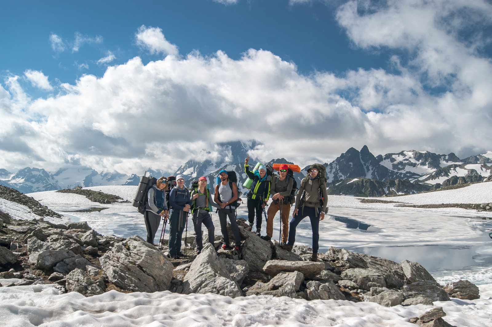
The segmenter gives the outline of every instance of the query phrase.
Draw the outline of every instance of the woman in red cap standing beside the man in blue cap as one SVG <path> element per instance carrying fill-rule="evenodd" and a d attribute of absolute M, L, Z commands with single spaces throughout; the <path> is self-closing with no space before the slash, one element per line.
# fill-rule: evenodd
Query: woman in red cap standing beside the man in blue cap
<path fill-rule="evenodd" d="M 219 205 L 212 201 L 212 195 L 207 189 L 207 178 L 202 176 L 198 178 L 198 187 L 191 191 L 191 213 L 193 227 L 195 229 L 196 254 L 200 254 L 203 249 L 202 241 L 202 223 L 209 233 L 209 242 L 214 245 L 215 226 L 210 216 L 210 207 L 220 208 Z"/>

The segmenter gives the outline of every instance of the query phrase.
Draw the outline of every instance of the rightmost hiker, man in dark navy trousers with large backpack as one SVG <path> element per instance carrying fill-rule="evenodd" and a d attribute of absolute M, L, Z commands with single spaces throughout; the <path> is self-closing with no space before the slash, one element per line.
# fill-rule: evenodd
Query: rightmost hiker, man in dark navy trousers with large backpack
<path fill-rule="evenodd" d="M 316 165 L 311 165 L 307 169 L 307 176 L 303 178 L 296 197 L 296 206 L 292 213 L 292 220 L 289 224 L 289 238 L 287 243 L 280 246 L 288 251 L 292 250 L 296 241 L 296 227 L 306 217 L 311 220 L 312 230 L 312 257 L 311 261 L 317 261 L 319 249 L 319 222 L 325 218 L 327 205 L 326 182 L 319 178 L 319 170 Z M 321 196 L 320 196 L 321 191 Z M 321 198 L 325 199 L 321 205 Z"/>

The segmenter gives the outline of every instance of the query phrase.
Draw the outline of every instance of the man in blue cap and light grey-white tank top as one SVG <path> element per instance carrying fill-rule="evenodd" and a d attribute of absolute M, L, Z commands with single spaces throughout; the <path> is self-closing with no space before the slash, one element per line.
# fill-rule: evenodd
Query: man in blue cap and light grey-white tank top
<path fill-rule="evenodd" d="M 238 200 L 238 187 L 236 183 L 229 181 L 227 171 L 219 172 L 221 182 L 215 185 L 214 201 L 220 206 L 218 209 L 218 219 L 220 221 L 220 232 L 222 233 L 223 249 L 229 247 L 229 234 L 227 233 L 227 217 L 231 223 L 232 232 L 234 233 L 234 241 L 236 243 L 235 250 L 240 251 L 241 234 L 239 234 L 238 224 L 236 222 L 236 207 L 231 206 L 232 203 Z M 232 187 L 231 187 L 232 186 Z"/>

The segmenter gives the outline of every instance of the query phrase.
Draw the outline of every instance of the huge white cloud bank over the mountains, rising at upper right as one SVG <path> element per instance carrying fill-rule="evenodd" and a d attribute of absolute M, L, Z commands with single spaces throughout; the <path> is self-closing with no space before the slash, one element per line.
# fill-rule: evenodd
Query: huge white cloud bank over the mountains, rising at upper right
<path fill-rule="evenodd" d="M 340 6 L 338 22 L 354 46 L 398 50 L 391 70 L 306 76 L 292 62 L 250 49 L 237 60 L 221 51 L 146 65 L 135 57 L 103 77 L 62 84 L 64 91 L 47 99 L 31 100 L 12 77 L 0 88 L 2 117 L 10 119 L 0 135 L 19 150 L 0 149 L 0 167 L 76 162 L 124 173 L 172 171 L 190 158 L 219 155 L 216 142 L 251 139 L 263 143 L 254 151 L 261 159 L 300 165 L 363 145 L 374 154 L 417 149 L 462 157 L 490 150 L 492 62 L 479 50 L 488 41 L 479 34 L 462 40 L 466 19 L 442 23 L 442 15 L 471 10 L 490 26 L 490 5 L 478 10 L 472 2 L 485 3 Z M 412 17 L 425 27 L 417 29 Z M 399 57 L 402 49 L 406 57 Z"/>

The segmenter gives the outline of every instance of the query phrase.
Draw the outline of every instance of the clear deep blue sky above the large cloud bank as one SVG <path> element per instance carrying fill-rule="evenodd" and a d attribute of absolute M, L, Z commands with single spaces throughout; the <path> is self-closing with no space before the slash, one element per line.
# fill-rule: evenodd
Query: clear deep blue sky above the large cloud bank
<path fill-rule="evenodd" d="M 8 49 L 0 53 L 4 74 L 42 70 L 50 80 L 73 84 L 82 74 L 102 76 L 107 65 L 96 62 L 107 51 L 116 57 L 109 64 L 135 56 L 144 63 L 162 59 L 161 54 L 149 55 L 135 44 L 135 32 L 142 25 L 161 28 L 182 55 L 197 50 L 210 56 L 222 50 L 239 59 L 249 48 L 264 49 L 293 61 L 304 74 L 388 67 L 387 51 L 351 46 L 335 20 L 336 6 L 323 2 L 2 1 L 0 5 L 9 13 L 0 21 L 0 28 L 9 31 L 0 35 L 2 48 Z M 70 44 L 75 33 L 91 39 L 100 36 L 102 41 L 86 42 L 74 52 Z M 51 34 L 67 43 L 65 51 L 53 51 Z"/>

